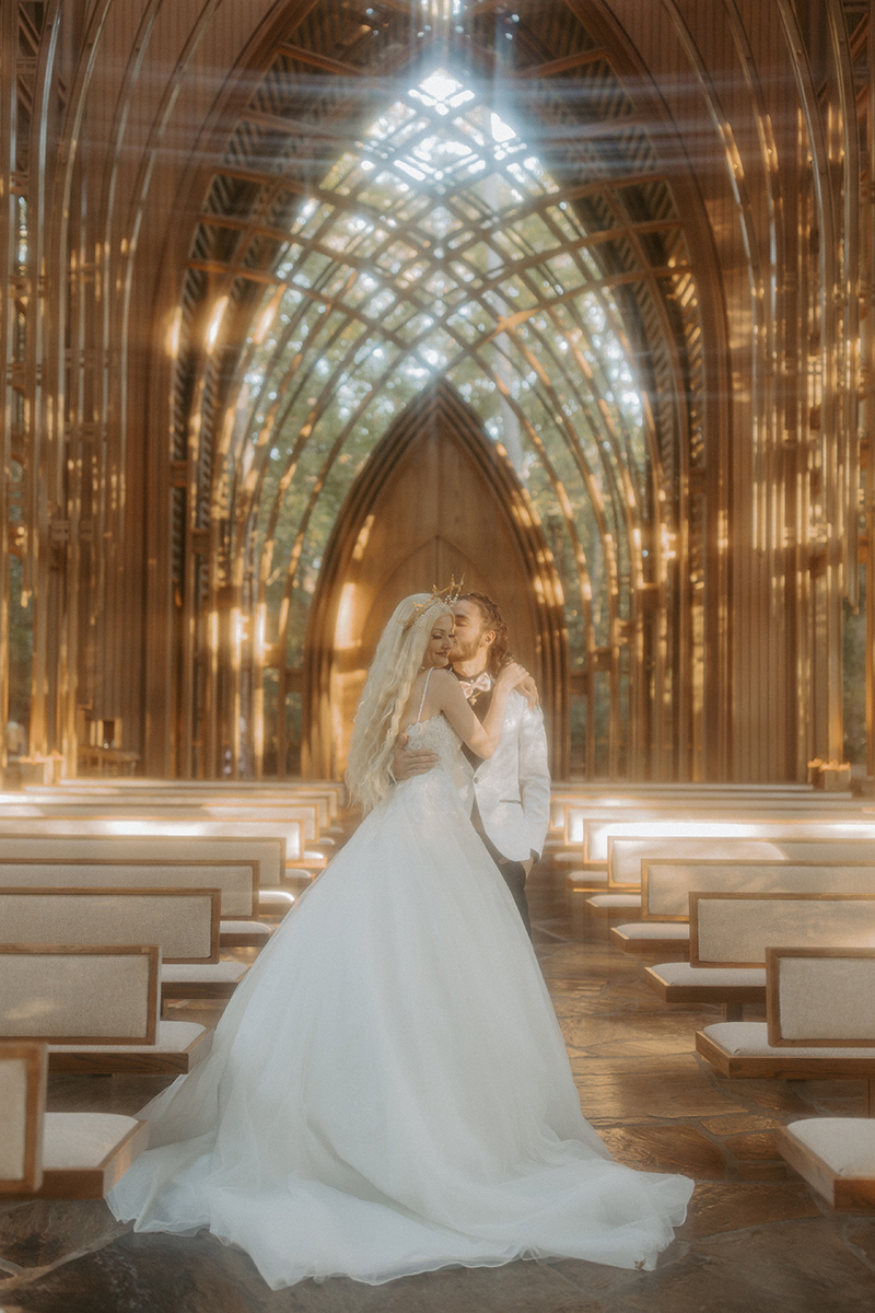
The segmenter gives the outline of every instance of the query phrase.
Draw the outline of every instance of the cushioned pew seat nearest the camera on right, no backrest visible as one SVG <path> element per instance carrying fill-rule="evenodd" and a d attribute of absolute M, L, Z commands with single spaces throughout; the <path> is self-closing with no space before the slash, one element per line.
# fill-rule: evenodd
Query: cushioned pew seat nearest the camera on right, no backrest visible
<path fill-rule="evenodd" d="M 837 1212 L 875 1209 L 875 1123 L 861 1117 L 791 1121 L 778 1150 Z"/>

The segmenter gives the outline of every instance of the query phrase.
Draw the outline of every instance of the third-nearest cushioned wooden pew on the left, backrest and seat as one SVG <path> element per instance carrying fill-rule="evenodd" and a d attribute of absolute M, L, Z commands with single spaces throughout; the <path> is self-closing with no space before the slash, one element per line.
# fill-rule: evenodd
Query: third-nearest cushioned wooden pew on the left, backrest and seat
<path fill-rule="evenodd" d="M 0 888 L 0 934 L 22 944 L 157 944 L 161 999 L 230 998 L 244 962 L 219 961 L 215 889 Z"/>

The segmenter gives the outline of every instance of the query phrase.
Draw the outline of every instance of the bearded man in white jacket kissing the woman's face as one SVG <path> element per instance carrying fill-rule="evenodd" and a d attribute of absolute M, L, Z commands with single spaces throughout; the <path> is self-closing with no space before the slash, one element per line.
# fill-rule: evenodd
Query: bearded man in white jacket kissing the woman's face
<path fill-rule="evenodd" d="M 495 679 L 509 659 L 508 628 L 495 601 L 466 592 L 453 603 L 451 671 L 479 720 L 492 700 Z M 485 762 L 468 747 L 466 794 L 471 823 L 505 878 L 531 936 L 526 877 L 540 856 L 550 823 L 550 771 L 543 717 L 514 689 L 495 754 Z M 408 780 L 432 769 L 437 756 L 426 751 L 395 752 L 394 773 Z"/>

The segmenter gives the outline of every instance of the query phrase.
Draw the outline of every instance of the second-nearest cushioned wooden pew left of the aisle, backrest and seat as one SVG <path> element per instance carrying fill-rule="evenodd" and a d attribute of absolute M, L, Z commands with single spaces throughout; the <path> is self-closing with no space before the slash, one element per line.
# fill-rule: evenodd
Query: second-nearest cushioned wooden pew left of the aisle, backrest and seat
<path fill-rule="evenodd" d="M 0 944 L 0 1039 L 49 1045 L 49 1070 L 181 1075 L 210 1052 L 195 1022 L 159 1020 L 156 945 Z"/>

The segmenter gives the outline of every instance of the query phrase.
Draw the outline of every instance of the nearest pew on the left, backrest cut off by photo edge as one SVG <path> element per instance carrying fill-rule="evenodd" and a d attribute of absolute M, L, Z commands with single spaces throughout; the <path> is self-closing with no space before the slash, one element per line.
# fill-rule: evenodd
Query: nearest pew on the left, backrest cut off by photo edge
<path fill-rule="evenodd" d="M 0 1041 L 0 1197 L 102 1199 L 148 1145 L 148 1123 L 46 1112 L 45 1044 Z"/>

